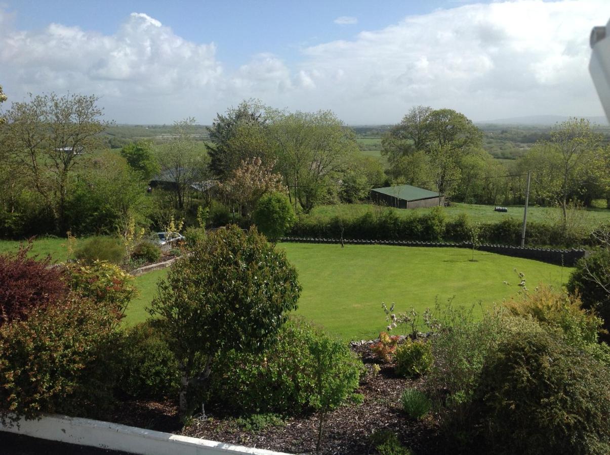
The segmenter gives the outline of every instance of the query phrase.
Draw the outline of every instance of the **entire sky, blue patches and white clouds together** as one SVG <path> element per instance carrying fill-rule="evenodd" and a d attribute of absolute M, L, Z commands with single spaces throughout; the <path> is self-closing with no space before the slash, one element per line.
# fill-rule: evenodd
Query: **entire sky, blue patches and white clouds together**
<path fill-rule="evenodd" d="M 394 124 L 601 116 L 589 34 L 610 0 L 0 0 L 0 85 L 99 97 L 127 124 L 210 124 L 243 99 Z"/>

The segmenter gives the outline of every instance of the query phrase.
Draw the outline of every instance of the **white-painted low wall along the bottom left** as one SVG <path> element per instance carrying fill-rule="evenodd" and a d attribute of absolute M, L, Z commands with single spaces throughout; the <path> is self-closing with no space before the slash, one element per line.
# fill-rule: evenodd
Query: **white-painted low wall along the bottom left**
<path fill-rule="evenodd" d="M 180 455 L 286 455 L 270 450 L 64 415 L 45 415 L 40 420 L 22 419 L 12 426 L 0 423 L 0 431 L 142 455 L 172 453 Z"/>

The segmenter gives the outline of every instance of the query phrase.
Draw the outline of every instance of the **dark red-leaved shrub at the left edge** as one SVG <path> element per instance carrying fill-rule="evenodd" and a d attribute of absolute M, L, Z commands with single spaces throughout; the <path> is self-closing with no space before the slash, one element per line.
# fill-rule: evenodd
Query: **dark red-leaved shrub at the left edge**
<path fill-rule="evenodd" d="M 0 326 L 24 319 L 35 308 L 62 300 L 68 284 L 61 267 L 50 267 L 51 258 L 27 257 L 30 247 L 0 255 Z"/>

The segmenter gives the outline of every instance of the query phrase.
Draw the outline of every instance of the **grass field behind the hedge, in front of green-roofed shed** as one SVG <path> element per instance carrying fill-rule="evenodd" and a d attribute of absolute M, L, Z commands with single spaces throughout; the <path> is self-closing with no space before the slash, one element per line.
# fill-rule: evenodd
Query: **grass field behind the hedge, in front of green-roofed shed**
<path fill-rule="evenodd" d="M 381 210 L 393 210 L 399 216 L 410 216 L 413 213 L 422 215 L 428 213 L 431 208 L 415 208 L 415 209 L 398 209 L 398 208 L 383 208 L 373 204 L 337 204 L 337 205 L 319 205 L 314 207 L 310 212 L 310 216 L 319 217 L 321 219 L 331 218 L 333 216 L 357 217 L 365 213 L 379 213 Z M 511 217 L 515 219 L 523 219 L 523 206 L 509 206 L 508 212 L 495 212 L 491 205 L 476 205 L 452 203 L 451 206 L 445 207 L 445 213 L 451 219 L 457 217 L 461 213 L 467 213 L 472 221 L 475 222 L 495 222 Z M 528 207 L 528 221 L 537 222 L 554 222 L 561 216 L 561 209 L 556 207 Z M 580 214 L 581 222 L 586 222 L 591 225 L 598 225 L 604 222 L 610 222 L 610 210 L 606 208 L 587 208 Z"/>

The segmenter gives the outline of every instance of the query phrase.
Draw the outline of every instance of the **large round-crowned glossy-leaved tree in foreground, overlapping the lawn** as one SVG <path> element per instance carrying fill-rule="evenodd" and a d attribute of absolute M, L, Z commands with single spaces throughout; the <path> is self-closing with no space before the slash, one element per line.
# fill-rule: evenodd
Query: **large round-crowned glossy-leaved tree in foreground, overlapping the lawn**
<path fill-rule="evenodd" d="M 187 393 L 201 390 L 215 355 L 259 351 L 296 308 L 301 287 L 284 252 L 256 228 L 210 233 L 159 283 L 148 312 L 160 317 L 182 372 L 180 412 Z"/>

